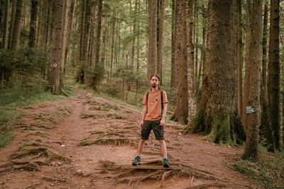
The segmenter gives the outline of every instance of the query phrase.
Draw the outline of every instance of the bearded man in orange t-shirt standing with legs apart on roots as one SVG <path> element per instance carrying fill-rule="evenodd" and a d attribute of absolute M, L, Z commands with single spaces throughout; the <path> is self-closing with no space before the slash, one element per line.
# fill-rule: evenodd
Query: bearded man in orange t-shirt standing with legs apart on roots
<path fill-rule="evenodd" d="M 166 168 L 170 166 L 164 139 L 165 114 L 167 113 L 168 98 L 165 91 L 160 91 L 159 82 L 160 78 L 157 75 L 151 76 L 151 91 L 148 91 L 143 98 L 143 113 L 140 122 L 141 140 L 138 145 L 137 156 L 132 163 L 133 166 L 140 164 L 140 155 L 146 140 L 149 138 L 151 130 L 153 130 L 155 134 L 155 139 L 160 142 L 163 154 L 163 166 Z"/>

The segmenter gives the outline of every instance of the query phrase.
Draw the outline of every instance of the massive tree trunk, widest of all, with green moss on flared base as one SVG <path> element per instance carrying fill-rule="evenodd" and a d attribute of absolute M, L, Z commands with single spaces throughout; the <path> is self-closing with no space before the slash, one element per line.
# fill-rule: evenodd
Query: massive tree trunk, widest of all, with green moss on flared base
<path fill-rule="evenodd" d="M 187 127 L 226 144 L 244 141 L 236 105 L 236 40 L 231 40 L 236 39 L 235 13 L 235 0 L 209 1 L 202 96 Z"/>

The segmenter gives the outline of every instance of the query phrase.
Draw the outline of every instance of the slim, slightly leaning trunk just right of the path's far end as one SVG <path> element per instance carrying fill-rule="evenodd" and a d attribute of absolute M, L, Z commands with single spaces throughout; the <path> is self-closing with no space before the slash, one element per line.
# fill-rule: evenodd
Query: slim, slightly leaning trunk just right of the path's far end
<path fill-rule="evenodd" d="M 95 71 L 95 76 L 93 78 L 93 89 L 94 91 L 97 91 L 97 87 L 99 84 L 99 79 L 101 77 L 101 74 L 103 72 L 103 67 L 101 65 L 102 62 L 99 62 L 99 51 L 101 47 L 101 30 L 102 30 L 102 1 L 99 0 L 99 15 L 98 15 L 98 23 L 97 23 L 97 40 L 96 40 L 96 57 L 94 59 L 94 71 Z"/>

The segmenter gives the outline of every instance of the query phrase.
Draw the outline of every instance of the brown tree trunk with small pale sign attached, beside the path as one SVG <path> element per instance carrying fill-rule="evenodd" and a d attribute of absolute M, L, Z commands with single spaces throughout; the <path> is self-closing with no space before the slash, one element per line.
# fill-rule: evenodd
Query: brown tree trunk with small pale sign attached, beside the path
<path fill-rule="evenodd" d="M 249 96 L 244 101 L 244 106 L 248 108 L 251 106 L 252 113 L 246 110 L 246 147 L 243 154 L 243 159 L 258 159 L 258 134 L 259 126 L 261 125 L 261 103 L 260 103 L 260 89 L 261 89 L 261 42 L 262 42 L 262 1 L 249 0 L 249 46 L 246 52 L 246 72 L 245 85 L 249 85 L 247 91 Z M 249 76 L 249 77 L 248 77 Z M 246 80 L 248 79 L 249 80 Z"/>

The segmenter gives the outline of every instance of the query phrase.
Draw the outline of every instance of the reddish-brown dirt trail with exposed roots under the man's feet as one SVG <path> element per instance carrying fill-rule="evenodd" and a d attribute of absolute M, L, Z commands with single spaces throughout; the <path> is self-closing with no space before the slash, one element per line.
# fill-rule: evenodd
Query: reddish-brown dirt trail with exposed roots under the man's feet
<path fill-rule="evenodd" d="M 0 188 L 260 188 L 232 166 L 242 149 L 167 122 L 171 168 L 163 169 L 153 133 L 141 156 L 146 169 L 131 167 L 141 111 L 86 91 L 20 110 L 16 137 L 0 149 Z"/>

